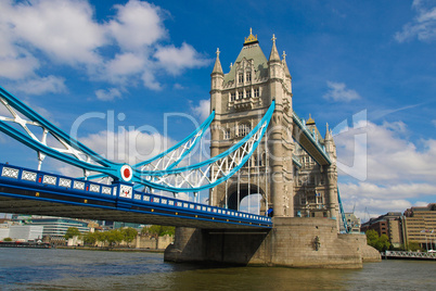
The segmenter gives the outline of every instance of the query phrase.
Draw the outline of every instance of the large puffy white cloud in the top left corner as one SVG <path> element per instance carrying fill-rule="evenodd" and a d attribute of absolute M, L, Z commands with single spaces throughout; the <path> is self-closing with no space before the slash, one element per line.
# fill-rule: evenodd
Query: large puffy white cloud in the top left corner
<path fill-rule="evenodd" d="M 69 64 L 97 63 L 95 49 L 106 42 L 103 27 L 93 21 L 86 1 L 21 2 L 11 10 L 9 23 L 16 38 Z"/>

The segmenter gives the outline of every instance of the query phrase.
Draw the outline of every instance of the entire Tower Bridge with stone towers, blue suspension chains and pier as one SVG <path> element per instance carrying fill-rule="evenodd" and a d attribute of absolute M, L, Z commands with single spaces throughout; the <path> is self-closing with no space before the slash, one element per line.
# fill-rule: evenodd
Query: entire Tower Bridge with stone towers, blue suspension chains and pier
<path fill-rule="evenodd" d="M 326 127 L 322 137 L 311 117 L 293 111 L 292 77 L 275 40 L 267 59 L 251 31 L 227 74 L 217 50 L 210 116 L 136 165 L 104 159 L 0 87 L 0 130 L 38 154 L 36 169 L 0 164 L 0 212 L 177 226 L 167 261 L 361 267 L 376 255 L 364 236 L 338 233 L 332 134 Z M 208 128 L 211 157 L 191 164 Z M 46 156 L 84 177 L 42 172 Z M 209 193 L 207 205 L 177 198 L 201 191 Z M 253 194 L 257 213 L 242 212 Z"/>

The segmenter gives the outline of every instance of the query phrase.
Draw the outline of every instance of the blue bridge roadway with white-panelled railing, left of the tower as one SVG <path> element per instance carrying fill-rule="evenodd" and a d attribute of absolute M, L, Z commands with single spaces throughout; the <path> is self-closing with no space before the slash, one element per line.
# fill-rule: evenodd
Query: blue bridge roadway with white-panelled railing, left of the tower
<path fill-rule="evenodd" d="M 0 164 L 0 213 L 204 229 L 272 227 L 270 217 L 132 189 L 129 192 L 126 189 L 131 185 L 127 184 L 102 185 L 8 164 Z"/>

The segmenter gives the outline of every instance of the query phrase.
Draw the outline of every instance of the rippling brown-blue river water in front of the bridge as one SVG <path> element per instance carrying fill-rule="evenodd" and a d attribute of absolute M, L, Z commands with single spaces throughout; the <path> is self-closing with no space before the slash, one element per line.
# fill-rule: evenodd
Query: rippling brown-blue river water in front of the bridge
<path fill-rule="evenodd" d="M 436 262 L 211 267 L 165 263 L 157 253 L 0 248 L 0 290 L 436 290 Z"/>

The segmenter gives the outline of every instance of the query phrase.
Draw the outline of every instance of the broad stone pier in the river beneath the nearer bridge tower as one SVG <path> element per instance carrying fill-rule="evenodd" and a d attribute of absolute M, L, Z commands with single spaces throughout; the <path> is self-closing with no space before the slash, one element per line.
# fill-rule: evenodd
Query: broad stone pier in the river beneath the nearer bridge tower
<path fill-rule="evenodd" d="M 364 235 L 338 235 L 334 219 L 275 217 L 273 223 L 269 231 L 252 232 L 178 228 L 165 261 L 361 268 L 368 254 L 377 258 L 366 245 Z"/>

